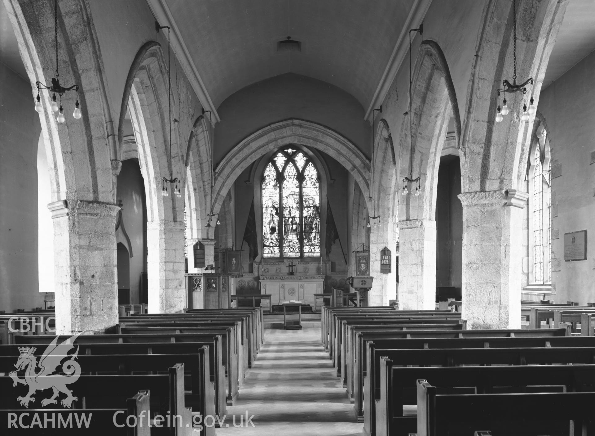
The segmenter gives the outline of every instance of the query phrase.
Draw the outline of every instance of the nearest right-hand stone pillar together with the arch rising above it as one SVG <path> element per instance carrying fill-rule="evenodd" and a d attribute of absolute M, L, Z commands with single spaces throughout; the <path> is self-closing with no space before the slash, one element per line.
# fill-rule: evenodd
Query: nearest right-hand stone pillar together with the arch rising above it
<path fill-rule="evenodd" d="M 568 0 L 516 0 L 519 78 L 541 83 Z M 462 316 L 469 328 L 519 328 L 523 186 L 534 117 L 520 119 L 522 94 L 496 123 L 496 90 L 512 73 L 513 3 L 488 2 L 469 77 L 461 136 Z M 525 80 L 525 79 L 522 79 Z M 486 241 L 485 235 L 490 235 Z"/>

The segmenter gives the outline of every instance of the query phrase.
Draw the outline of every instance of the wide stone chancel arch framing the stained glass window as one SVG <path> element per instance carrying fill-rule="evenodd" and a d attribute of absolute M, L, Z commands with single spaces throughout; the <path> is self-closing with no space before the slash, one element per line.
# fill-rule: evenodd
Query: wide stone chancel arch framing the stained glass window
<path fill-rule="evenodd" d="M 233 148 L 215 170 L 213 214 L 217 214 L 231 185 L 258 158 L 288 144 L 324 151 L 342 164 L 362 192 L 368 192 L 370 162 L 353 142 L 334 130 L 306 120 L 289 119 L 252 133 Z"/>

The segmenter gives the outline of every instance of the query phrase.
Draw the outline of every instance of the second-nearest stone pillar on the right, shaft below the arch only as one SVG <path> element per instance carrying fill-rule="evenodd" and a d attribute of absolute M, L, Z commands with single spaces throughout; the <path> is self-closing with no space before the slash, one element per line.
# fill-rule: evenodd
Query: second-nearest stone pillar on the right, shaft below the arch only
<path fill-rule="evenodd" d="M 399 221 L 399 309 L 436 307 L 436 221 Z"/>

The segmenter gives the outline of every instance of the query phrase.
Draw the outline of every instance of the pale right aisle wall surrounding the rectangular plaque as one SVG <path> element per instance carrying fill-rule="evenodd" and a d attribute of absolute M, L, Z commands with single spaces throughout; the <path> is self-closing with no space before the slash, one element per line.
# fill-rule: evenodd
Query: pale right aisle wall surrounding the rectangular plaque
<path fill-rule="evenodd" d="M 541 91 L 552 150 L 552 285 L 556 303 L 595 301 L 595 52 Z M 563 259 L 564 233 L 587 230 L 587 260 Z M 559 236 L 559 237 L 558 237 Z"/>

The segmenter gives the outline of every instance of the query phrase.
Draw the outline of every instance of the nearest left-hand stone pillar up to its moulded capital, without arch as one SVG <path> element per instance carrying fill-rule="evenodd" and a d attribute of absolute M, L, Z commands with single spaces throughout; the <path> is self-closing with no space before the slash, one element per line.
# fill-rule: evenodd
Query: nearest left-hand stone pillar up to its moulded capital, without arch
<path fill-rule="evenodd" d="M 118 323 L 115 204 L 61 200 L 54 219 L 58 334 L 103 333 Z"/>

